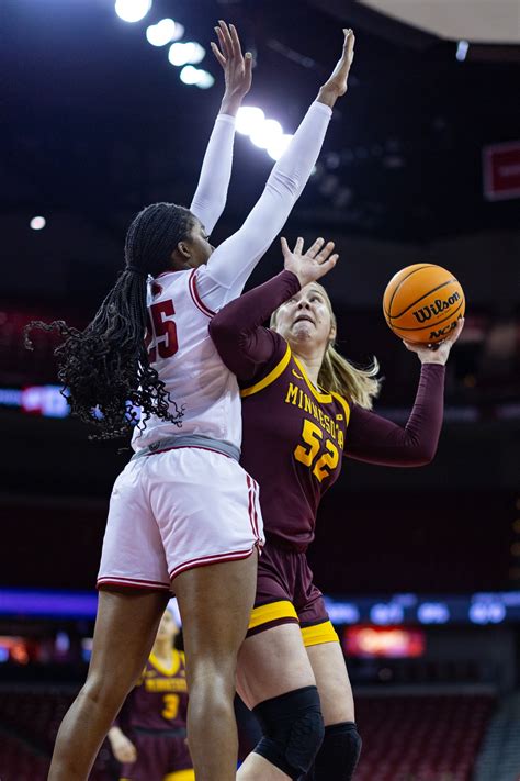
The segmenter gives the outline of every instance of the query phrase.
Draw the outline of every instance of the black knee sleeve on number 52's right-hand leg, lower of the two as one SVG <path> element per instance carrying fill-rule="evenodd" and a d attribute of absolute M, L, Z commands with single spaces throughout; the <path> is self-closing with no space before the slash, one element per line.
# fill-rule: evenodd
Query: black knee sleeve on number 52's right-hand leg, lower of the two
<path fill-rule="evenodd" d="M 361 754 L 354 722 L 330 724 L 316 757 L 314 781 L 350 781 Z"/>

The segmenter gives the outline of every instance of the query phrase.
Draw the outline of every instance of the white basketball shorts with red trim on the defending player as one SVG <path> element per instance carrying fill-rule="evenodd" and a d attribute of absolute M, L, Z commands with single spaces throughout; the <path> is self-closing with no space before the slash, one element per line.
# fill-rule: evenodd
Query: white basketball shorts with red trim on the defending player
<path fill-rule="evenodd" d="M 169 591 L 186 569 L 246 558 L 264 543 L 258 493 L 236 460 L 202 447 L 129 461 L 112 490 L 98 587 Z"/>

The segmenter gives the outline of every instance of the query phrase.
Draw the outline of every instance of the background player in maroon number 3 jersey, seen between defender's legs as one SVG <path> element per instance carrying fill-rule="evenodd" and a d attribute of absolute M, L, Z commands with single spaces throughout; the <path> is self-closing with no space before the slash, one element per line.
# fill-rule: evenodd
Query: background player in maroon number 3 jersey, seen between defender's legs
<path fill-rule="evenodd" d="M 120 781 L 194 781 L 186 744 L 188 685 L 179 628 L 165 611 L 156 641 L 135 689 L 109 732 L 122 763 Z"/>

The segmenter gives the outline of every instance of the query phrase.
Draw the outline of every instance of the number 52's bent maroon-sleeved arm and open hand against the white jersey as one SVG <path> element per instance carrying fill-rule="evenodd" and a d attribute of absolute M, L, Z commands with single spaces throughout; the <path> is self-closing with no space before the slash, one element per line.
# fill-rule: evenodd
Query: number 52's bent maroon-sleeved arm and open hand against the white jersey
<path fill-rule="evenodd" d="M 332 242 L 325 244 L 323 238 L 305 255 L 303 238 L 294 252 L 282 239 L 282 249 L 285 270 L 228 303 L 210 322 L 210 335 L 221 358 L 241 381 L 268 373 L 287 348 L 285 341 L 262 323 L 301 288 L 326 275 L 338 259 Z"/>

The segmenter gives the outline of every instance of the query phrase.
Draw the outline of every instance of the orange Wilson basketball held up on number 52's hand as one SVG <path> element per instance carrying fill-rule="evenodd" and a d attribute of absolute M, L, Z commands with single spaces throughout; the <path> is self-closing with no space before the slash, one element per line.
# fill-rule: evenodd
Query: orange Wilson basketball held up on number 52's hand
<path fill-rule="evenodd" d="M 394 334 L 407 342 L 442 342 L 464 316 L 464 292 L 441 266 L 418 263 L 392 277 L 383 297 L 383 312 Z"/>

